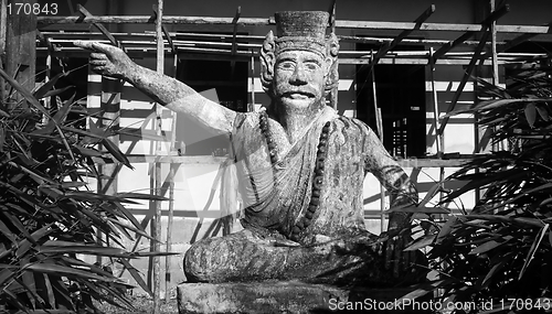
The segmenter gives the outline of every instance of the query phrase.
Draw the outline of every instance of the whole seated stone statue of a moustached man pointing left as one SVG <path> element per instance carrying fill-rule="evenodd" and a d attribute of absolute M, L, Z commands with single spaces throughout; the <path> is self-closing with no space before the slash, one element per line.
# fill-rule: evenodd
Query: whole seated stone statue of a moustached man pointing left
<path fill-rule="evenodd" d="M 412 281 L 416 255 L 403 252 L 411 215 L 392 213 L 389 230 L 370 234 L 363 180 L 373 173 L 391 207 L 416 204 L 417 192 L 363 122 L 326 106 L 338 83 L 339 43 L 326 35 L 327 12 L 279 12 L 277 36 L 261 51 L 262 83 L 272 102 L 235 112 L 177 79 L 138 66 L 119 48 L 93 42 L 93 69 L 123 78 L 156 101 L 193 117 L 233 145 L 244 230 L 192 245 L 190 282 L 300 280 L 390 286 Z"/>

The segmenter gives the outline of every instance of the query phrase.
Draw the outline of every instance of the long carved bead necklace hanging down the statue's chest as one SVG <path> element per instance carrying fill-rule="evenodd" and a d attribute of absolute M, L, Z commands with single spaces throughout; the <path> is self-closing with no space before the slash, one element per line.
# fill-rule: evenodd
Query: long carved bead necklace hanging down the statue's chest
<path fill-rule="evenodd" d="M 330 131 L 330 121 L 326 122 L 322 127 L 322 132 L 320 133 L 320 138 L 318 140 L 318 150 L 316 154 L 316 165 L 315 165 L 315 176 L 312 178 L 312 193 L 310 195 L 310 202 L 305 212 L 305 216 L 300 218 L 297 224 L 291 229 L 290 238 L 294 241 L 299 239 L 299 232 L 310 225 L 310 220 L 315 216 L 318 206 L 320 205 L 320 190 L 323 183 L 323 171 L 325 171 L 325 161 L 328 153 L 328 132 Z M 270 155 L 270 163 L 274 164 L 277 162 L 277 147 L 274 139 L 270 137 L 268 131 L 268 118 L 265 111 L 261 112 L 259 117 L 259 129 L 263 136 L 266 139 L 266 144 L 268 145 L 268 154 Z"/>

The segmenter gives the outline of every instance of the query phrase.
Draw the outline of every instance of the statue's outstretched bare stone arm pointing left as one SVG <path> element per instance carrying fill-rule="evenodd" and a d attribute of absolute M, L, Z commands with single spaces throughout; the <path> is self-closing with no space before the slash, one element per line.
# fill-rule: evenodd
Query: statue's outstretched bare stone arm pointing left
<path fill-rule="evenodd" d="M 75 42 L 93 51 L 92 69 L 98 74 L 124 79 L 155 101 L 188 115 L 217 134 L 232 131 L 236 112 L 206 99 L 188 85 L 134 63 L 120 48 L 97 42 Z"/>

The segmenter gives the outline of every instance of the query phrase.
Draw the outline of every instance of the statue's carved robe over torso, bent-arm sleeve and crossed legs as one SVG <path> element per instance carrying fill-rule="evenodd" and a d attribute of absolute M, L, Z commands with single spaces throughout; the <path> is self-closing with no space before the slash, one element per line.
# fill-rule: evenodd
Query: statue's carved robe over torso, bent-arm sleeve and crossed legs
<path fill-rule="evenodd" d="M 392 206 L 414 204 L 417 193 L 403 170 L 367 124 L 330 107 L 273 164 L 261 115 L 240 113 L 231 138 L 244 230 L 193 243 L 184 258 L 188 280 L 389 284 L 393 275 L 382 246 L 365 229 L 362 190 L 372 172 L 392 192 Z M 311 201 L 319 138 L 328 121 L 319 205 L 310 225 L 291 237 Z"/>

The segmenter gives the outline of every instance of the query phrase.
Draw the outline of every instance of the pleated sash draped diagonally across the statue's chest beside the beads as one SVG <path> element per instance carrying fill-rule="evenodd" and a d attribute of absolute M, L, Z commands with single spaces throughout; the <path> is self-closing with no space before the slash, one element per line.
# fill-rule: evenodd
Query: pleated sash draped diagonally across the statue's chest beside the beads
<path fill-rule="evenodd" d="M 245 227 L 267 228 L 289 237 L 293 226 L 307 210 L 310 202 L 321 129 L 326 121 L 335 117 L 337 117 L 336 111 L 326 106 L 304 129 L 304 134 L 269 169 L 252 169 L 247 161 L 244 162 L 247 171 L 242 173 L 241 181 L 256 178 L 252 183 L 253 188 L 246 190 L 246 193 L 255 193 L 255 195 L 245 195 L 245 197 L 257 201 L 244 209 L 242 224 Z M 242 149 L 246 148 L 242 145 Z M 247 159 L 247 154 L 241 155 Z"/>

